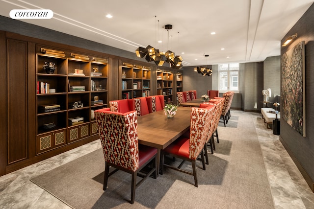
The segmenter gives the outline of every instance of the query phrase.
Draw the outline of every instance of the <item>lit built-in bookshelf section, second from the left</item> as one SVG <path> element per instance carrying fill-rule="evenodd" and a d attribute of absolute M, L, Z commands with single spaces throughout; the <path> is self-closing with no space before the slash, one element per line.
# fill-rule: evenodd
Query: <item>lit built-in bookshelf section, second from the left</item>
<path fill-rule="evenodd" d="M 151 94 L 151 69 L 145 66 L 123 63 L 121 98 L 136 98 Z"/>

